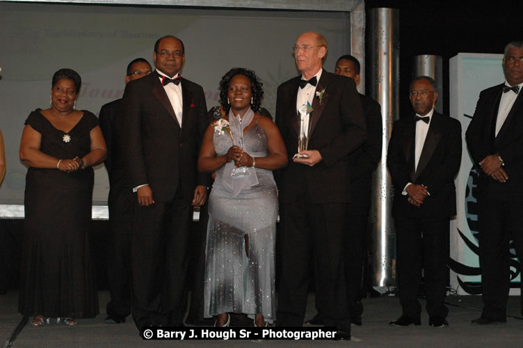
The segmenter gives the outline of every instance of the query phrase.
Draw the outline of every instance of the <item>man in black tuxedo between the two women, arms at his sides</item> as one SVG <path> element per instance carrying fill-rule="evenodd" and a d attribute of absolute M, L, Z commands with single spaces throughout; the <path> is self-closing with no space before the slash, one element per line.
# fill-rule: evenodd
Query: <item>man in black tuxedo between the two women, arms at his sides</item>
<path fill-rule="evenodd" d="M 208 125 L 203 89 L 179 76 L 185 51 L 178 38 L 159 38 L 152 56 L 156 70 L 127 84 L 118 122 L 136 192 L 133 317 L 140 331 L 183 326 L 192 206 L 207 198 L 207 175 L 196 168 Z"/>

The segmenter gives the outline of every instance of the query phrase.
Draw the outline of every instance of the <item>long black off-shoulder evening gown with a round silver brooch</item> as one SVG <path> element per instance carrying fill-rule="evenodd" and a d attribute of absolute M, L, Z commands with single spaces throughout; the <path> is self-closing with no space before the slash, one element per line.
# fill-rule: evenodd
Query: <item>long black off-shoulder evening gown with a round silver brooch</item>
<path fill-rule="evenodd" d="M 83 111 L 66 134 L 37 109 L 26 125 L 42 135 L 42 152 L 72 159 L 90 152 L 89 133 L 98 119 Z M 86 318 L 98 314 L 89 248 L 93 182 L 92 168 L 72 173 L 57 168 L 27 171 L 19 298 L 23 315 Z"/>

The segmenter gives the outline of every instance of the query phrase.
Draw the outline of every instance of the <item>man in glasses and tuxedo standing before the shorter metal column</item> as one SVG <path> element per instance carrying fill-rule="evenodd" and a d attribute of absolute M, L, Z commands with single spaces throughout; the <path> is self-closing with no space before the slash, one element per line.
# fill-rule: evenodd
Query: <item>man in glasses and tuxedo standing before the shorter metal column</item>
<path fill-rule="evenodd" d="M 415 115 L 394 122 L 387 166 L 394 184 L 396 272 L 402 314 L 390 324 L 421 324 L 417 299 L 424 269 L 429 325 L 448 326 L 444 305 L 447 237 L 456 215 L 454 176 L 461 162 L 461 125 L 434 110 L 435 81 L 416 77 L 410 84 Z"/>

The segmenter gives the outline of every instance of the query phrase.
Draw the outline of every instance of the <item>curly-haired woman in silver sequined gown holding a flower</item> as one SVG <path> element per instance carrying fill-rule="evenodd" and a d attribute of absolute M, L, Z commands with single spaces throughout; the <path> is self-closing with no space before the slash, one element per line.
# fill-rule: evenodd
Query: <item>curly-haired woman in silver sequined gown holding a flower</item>
<path fill-rule="evenodd" d="M 246 313 L 255 326 L 275 320 L 275 230 L 278 212 L 273 170 L 287 152 L 270 118 L 255 113 L 263 97 L 254 72 L 234 68 L 220 82 L 225 116 L 204 136 L 198 169 L 216 173 L 209 197 L 204 315 Z M 243 134 L 243 148 L 241 148 Z M 243 175 L 232 175 L 246 167 Z"/>

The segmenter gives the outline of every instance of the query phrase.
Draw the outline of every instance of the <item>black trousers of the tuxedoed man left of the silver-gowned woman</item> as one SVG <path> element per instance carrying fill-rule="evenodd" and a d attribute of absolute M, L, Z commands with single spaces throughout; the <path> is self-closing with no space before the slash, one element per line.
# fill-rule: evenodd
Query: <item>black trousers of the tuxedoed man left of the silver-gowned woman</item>
<path fill-rule="evenodd" d="M 193 209 L 184 199 L 136 203 L 133 235 L 133 318 L 145 326 L 177 326 L 186 310 L 188 236 Z"/>

